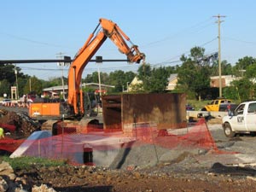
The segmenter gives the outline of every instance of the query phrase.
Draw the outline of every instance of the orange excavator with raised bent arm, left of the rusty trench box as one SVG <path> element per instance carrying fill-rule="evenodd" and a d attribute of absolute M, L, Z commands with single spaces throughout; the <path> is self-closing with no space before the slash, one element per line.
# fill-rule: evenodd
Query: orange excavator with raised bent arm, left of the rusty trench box
<path fill-rule="evenodd" d="M 101 29 L 96 33 L 97 29 Z M 95 34 L 96 33 L 96 34 Z M 130 38 L 125 35 L 119 26 L 112 20 L 100 19 L 94 32 L 79 49 L 73 59 L 68 72 L 68 98 L 67 102 L 34 102 L 29 108 L 29 114 L 36 119 L 60 119 L 60 118 L 82 118 L 86 113 L 85 95 L 81 88 L 81 79 L 84 67 L 90 61 L 96 51 L 100 49 L 107 38 L 113 41 L 119 51 L 127 56 L 131 62 L 140 63 L 145 60 L 145 55 L 131 43 Z M 126 42 L 131 43 L 129 47 Z"/>

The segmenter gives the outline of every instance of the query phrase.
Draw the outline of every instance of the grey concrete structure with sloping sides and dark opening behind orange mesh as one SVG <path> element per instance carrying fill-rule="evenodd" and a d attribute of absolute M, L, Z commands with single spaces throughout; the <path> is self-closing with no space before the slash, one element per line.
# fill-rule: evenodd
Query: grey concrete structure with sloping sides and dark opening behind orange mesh
<path fill-rule="evenodd" d="M 44 138 L 48 138 L 44 140 Z M 69 159 L 84 163 L 84 148 L 91 149 L 93 163 L 96 166 L 110 166 L 119 154 L 124 143 L 134 141 L 133 137 L 124 137 L 122 132 L 90 134 L 71 134 L 63 137 L 51 137 L 50 131 L 35 131 L 15 150 L 10 158 L 20 156 L 37 156 Z"/>

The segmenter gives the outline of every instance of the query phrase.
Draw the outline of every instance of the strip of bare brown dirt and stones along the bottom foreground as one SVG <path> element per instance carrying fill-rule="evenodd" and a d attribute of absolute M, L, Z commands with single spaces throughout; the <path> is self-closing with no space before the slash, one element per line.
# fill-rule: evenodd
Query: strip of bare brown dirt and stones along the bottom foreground
<path fill-rule="evenodd" d="M 193 163 L 193 162 L 191 162 Z M 96 166 L 32 166 L 14 171 L 12 182 L 22 186 L 23 191 L 34 191 L 41 186 L 44 191 L 96 192 L 96 191 L 255 191 L 253 176 L 233 172 L 174 172 L 172 167 L 184 164 L 168 163 L 146 169 L 133 167 L 129 170 L 111 170 Z M 218 166 L 219 167 L 219 166 Z M 130 167 L 131 168 L 131 167 Z M 183 167 L 185 168 L 185 167 Z M 183 169 L 184 170 L 184 169 Z M 32 189 L 33 187 L 33 189 Z M 53 190 L 54 189 L 54 190 Z M 38 190 L 40 191 L 40 190 Z"/>

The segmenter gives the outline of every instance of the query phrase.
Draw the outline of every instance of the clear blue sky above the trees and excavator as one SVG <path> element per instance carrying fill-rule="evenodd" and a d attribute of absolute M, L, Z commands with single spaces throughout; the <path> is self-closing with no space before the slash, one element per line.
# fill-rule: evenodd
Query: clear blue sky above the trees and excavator
<path fill-rule="evenodd" d="M 253 0 L 9 0 L 0 12 L 0 60 L 55 59 L 58 53 L 73 58 L 98 20 L 113 20 L 145 53 L 147 63 L 179 64 L 195 46 L 206 54 L 218 51 L 218 24 L 214 15 L 225 15 L 221 23 L 222 60 L 236 64 L 244 56 L 256 57 L 255 1 Z M 96 55 L 103 59 L 125 59 L 107 39 Z M 95 57 L 93 57 L 94 59 Z M 56 63 L 19 64 L 23 73 L 39 79 L 61 76 Z M 104 62 L 100 70 L 137 72 L 137 64 Z M 96 63 L 84 68 L 83 76 L 97 70 Z M 64 68 L 67 77 L 67 67 Z"/>

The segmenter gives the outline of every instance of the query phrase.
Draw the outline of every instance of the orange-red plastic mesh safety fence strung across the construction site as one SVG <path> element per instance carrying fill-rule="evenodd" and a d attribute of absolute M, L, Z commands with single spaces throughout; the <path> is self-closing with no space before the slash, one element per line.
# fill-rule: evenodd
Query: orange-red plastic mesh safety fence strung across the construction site
<path fill-rule="evenodd" d="M 20 146 L 24 156 L 62 159 L 75 164 L 92 163 L 91 156 L 96 152 L 99 152 L 96 154 L 99 158 L 104 158 L 104 153 L 145 144 L 167 149 L 205 148 L 215 153 L 224 153 L 218 150 L 204 119 L 186 128 L 167 130 L 142 126 L 125 131 L 121 129 L 103 131 L 98 127 L 82 129 L 73 126 L 59 127 L 57 132 L 59 135 L 41 139 L 13 140 L 4 137 L 0 140 L 0 149 L 12 152 Z"/>

